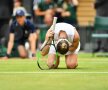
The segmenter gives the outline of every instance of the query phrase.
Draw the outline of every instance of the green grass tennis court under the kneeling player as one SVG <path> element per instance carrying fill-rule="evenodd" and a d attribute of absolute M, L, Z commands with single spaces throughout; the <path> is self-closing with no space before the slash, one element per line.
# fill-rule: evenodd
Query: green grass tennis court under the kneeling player
<path fill-rule="evenodd" d="M 63 58 L 64 59 L 64 58 Z M 0 90 L 108 90 L 108 58 L 79 54 L 79 66 L 40 70 L 36 61 L 0 60 Z"/>

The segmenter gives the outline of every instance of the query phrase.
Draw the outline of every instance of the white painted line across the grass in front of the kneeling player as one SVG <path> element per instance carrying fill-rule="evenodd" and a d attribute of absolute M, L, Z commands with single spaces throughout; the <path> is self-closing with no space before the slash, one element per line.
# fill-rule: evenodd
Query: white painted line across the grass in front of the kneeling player
<path fill-rule="evenodd" d="M 0 72 L 0 74 L 108 74 L 108 72 Z"/>

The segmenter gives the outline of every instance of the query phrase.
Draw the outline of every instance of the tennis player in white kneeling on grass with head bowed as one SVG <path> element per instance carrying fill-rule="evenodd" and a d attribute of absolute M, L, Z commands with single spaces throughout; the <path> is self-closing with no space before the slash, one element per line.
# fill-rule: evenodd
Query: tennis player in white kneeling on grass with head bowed
<path fill-rule="evenodd" d="M 56 64 L 54 64 L 56 50 L 54 46 L 51 45 L 53 37 L 56 48 L 59 48 L 59 44 L 62 43 L 63 40 L 66 42 L 65 44 L 68 43 L 69 45 L 66 52 L 58 49 L 57 52 L 59 55 L 57 56 Z M 68 69 L 75 69 L 78 66 L 77 59 L 78 51 L 80 50 L 80 36 L 75 27 L 68 23 L 57 23 L 54 31 L 50 29 L 47 31 L 45 41 L 48 41 L 48 45 L 41 50 L 41 54 L 43 56 L 48 54 L 47 64 L 49 68 L 56 69 L 58 67 L 61 55 L 65 56 L 65 62 Z"/>

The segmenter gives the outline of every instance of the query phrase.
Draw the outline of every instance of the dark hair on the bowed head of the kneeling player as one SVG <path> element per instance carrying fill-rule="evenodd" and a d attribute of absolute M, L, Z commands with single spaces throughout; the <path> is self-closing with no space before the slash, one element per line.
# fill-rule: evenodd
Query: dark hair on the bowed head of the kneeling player
<path fill-rule="evenodd" d="M 66 40 L 61 40 L 57 44 L 57 52 L 60 54 L 66 54 L 69 50 L 69 44 Z"/>

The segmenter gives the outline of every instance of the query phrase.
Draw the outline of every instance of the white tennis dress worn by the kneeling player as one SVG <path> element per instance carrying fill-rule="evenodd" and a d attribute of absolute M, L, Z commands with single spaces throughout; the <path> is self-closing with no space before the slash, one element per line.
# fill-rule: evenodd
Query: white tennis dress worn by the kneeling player
<path fill-rule="evenodd" d="M 73 42 L 73 39 L 74 39 L 74 35 L 75 35 L 75 27 L 73 27 L 71 24 L 68 24 L 68 23 L 57 23 L 55 25 L 55 30 L 54 30 L 54 41 L 58 41 L 58 36 L 59 36 L 59 32 L 60 31 L 65 31 L 67 33 L 67 36 L 68 36 L 68 41 L 69 42 Z M 70 52 L 68 51 L 65 55 L 69 55 L 69 54 L 78 54 L 78 51 L 80 50 L 80 42 L 79 42 L 79 45 L 77 47 L 77 49 L 74 51 L 74 52 Z M 56 53 L 56 50 L 54 48 L 53 45 L 50 46 L 50 50 L 49 50 L 49 54 L 55 54 Z"/>

